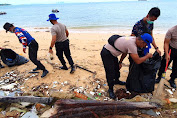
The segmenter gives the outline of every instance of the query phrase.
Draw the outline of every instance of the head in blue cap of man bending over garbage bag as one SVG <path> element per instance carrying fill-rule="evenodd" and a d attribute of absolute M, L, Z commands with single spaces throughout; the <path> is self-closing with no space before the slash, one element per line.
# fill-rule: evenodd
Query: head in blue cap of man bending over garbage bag
<path fill-rule="evenodd" d="M 137 37 L 136 45 L 139 48 L 151 48 L 151 43 L 153 41 L 153 38 L 150 34 L 144 33 Z"/>

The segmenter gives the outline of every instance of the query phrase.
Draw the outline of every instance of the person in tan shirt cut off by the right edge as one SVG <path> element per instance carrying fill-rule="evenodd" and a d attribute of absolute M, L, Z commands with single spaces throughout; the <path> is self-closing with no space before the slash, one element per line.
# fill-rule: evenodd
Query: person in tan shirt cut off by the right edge
<path fill-rule="evenodd" d="M 169 50 L 171 49 L 171 55 L 169 56 Z M 169 29 L 165 36 L 164 41 L 164 55 L 161 61 L 161 67 L 158 72 L 158 78 L 156 83 L 159 83 L 162 77 L 162 73 L 165 71 L 166 63 L 173 61 L 171 79 L 168 81 L 171 87 L 176 88 L 175 78 L 177 78 L 177 25 Z"/>

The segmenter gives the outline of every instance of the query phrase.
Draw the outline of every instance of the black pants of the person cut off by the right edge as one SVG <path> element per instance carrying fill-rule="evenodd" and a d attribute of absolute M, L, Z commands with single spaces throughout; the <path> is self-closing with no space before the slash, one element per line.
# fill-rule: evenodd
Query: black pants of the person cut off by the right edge
<path fill-rule="evenodd" d="M 177 49 L 172 48 L 171 46 L 169 46 L 169 49 L 171 49 L 171 55 L 170 55 L 170 61 L 168 63 L 168 65 L 173 61 L 173 65 L 172 65 L 172 73 L 170 75 L 171 80 L 175 80 L 175 78 L 177 78 Z M 162 57 L 162 61 L 161 61 L 161 67 L 159 69 L 158 72 L 158 76 L 159 78 L 162 77 L 162 73 L 165 72 L 165 67 L 166 67 L 166 59 L 165 59 L 165 53 Z"/>

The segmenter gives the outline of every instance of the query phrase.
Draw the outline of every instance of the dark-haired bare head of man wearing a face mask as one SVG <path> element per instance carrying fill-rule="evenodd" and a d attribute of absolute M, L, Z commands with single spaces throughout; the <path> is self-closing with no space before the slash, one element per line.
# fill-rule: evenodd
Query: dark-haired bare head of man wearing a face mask
<path fill-rule="evenodd" d="M 160 16 L 160 9 L 158 7 L 153 7 L 150 9 L 149 13 L 147 14 L 147 23 L 153 24 L 155 20 Z"/>

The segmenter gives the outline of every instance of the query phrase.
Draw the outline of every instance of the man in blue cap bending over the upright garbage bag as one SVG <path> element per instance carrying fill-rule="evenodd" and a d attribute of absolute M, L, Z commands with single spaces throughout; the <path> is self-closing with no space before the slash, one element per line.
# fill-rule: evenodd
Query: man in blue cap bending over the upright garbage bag
<path fill-rule="evenodd" d="M 113 35 L 111 38 L 115 38 Z M 104 69 L 106 72 L 106 79 L 109 86 L 109 97 L 115 99 L 116 96 L 114 94 L 113 86 L 115 84 L 124 85 L 125 82 L 119 80 L 120 77 L 120 69 L 122 67 L 122 61 L 126 57 L 127 54 L 131 56 L 133 61 L 137 64 L 144 62 L 146 59 L 151 58 L 152 54 L 147 53 L 144 57 L 139 57 L 137 53 L 138 48 L 144 48 L 146 46 L 150 46 L 152 43 L 152 37 L 148 33 L 145 33 L 139 37 L 131 36 L 131 37 L 117 37 L 114 42 L 114 46 L 111 44 L 106 44 L 101 51 L 101 58 L 103 61 Z M 121 59 L 118 62 L 117 56 L 121 55 Z"/>

